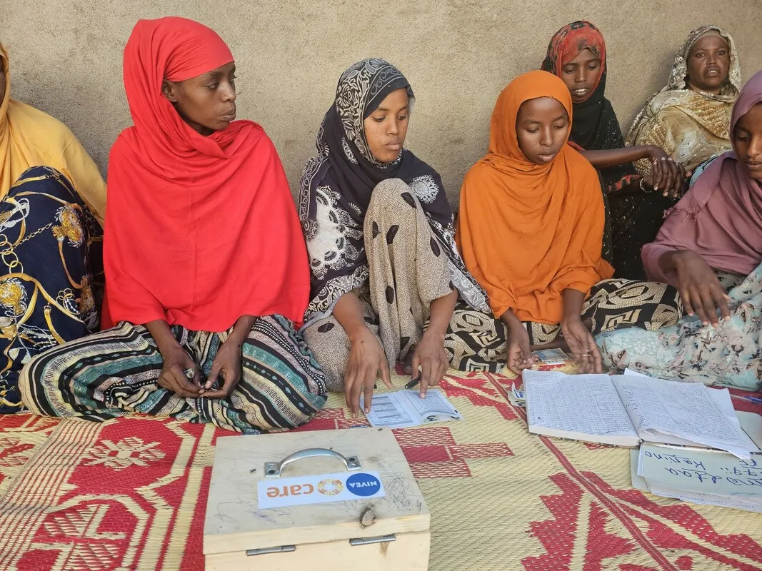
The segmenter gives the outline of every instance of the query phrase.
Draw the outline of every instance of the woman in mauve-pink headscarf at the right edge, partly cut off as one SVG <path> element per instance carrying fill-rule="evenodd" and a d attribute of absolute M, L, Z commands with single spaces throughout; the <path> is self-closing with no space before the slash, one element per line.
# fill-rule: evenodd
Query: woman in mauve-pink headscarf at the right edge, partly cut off
<path fill-rule="evenodd" d="M 762 72 L 733 109 L 733 150 L 697 169 L 642 258 L 680 291 L 687 316 L 656 332 L 596 341 L 604 362 L 662 378 L 760 389 L 762 379 Z"/>

